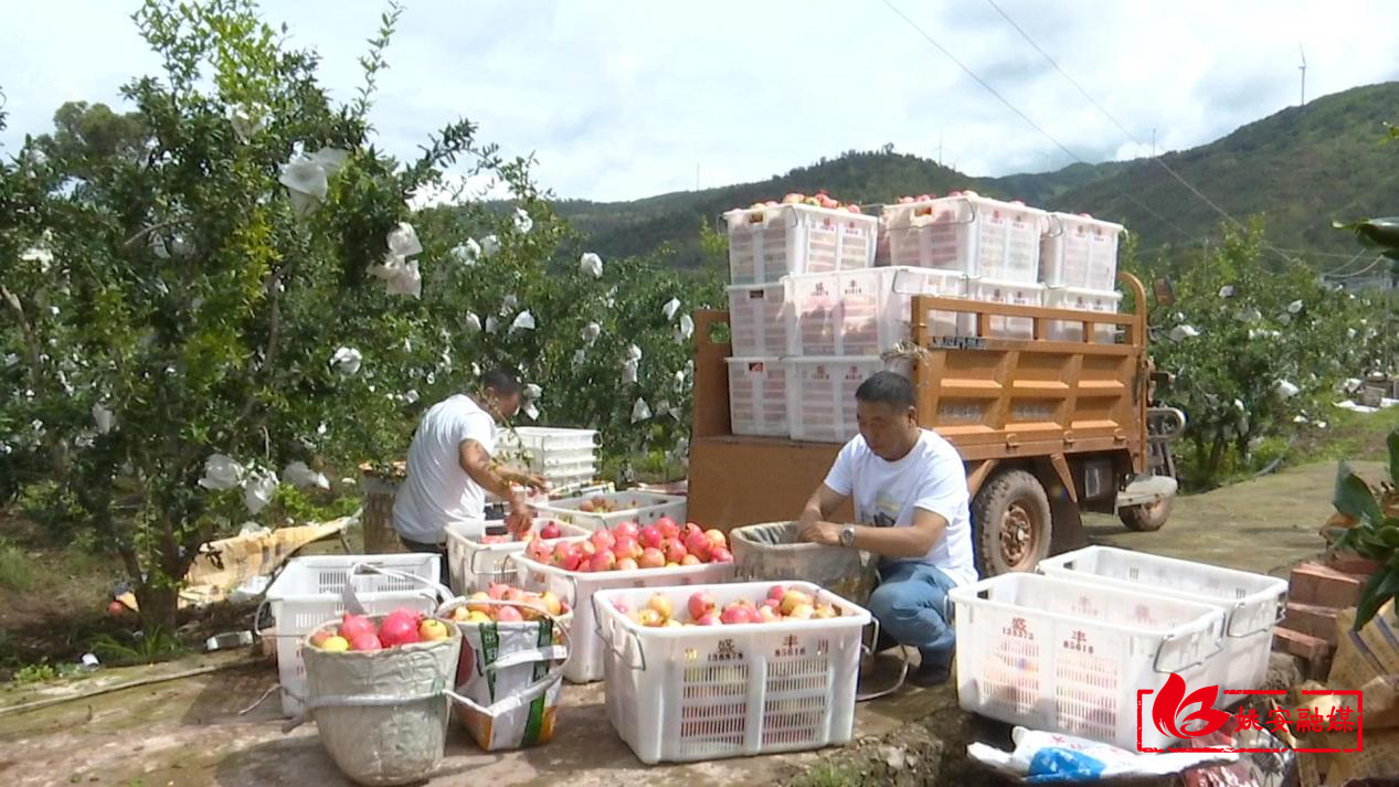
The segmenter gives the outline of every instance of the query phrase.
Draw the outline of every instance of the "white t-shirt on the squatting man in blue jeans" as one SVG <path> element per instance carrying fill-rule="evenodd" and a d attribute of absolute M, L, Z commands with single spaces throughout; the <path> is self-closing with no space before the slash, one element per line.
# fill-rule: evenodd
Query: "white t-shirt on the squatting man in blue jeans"
<path fill-rule="evenodd" d="M 957 449 L 936 432 L 922 429 L 918 443 L 898 461 L 884 461 L 856 435 L 845 443 L 825 477 L 834 492 L 855 496 L 855 521 L 874 527 L 908 527 L 914 509 L 947 520 L 947 530 L 922 558 L 957 584 L 977 582 L 971 547 L 967 468 Z"/>

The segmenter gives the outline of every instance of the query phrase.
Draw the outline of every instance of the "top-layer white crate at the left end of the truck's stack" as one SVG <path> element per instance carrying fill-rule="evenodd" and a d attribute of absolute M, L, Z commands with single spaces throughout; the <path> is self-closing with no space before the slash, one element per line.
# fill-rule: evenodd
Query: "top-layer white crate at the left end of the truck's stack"
<path fill-rule="evenodd" d="M 729 224 L 730 284 L 764 284 L 792 273 L 831 273 L 874 264 L 879 219 L 811 205 L 739 208 Z"/>

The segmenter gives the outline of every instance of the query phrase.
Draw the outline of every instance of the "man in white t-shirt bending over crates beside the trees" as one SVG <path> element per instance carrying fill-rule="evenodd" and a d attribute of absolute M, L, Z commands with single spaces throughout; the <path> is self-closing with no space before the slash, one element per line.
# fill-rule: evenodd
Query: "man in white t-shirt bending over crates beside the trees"
<path fill-rule="evenodd" d="M 509 502 L 512 530 L 529 527 L 529 506 L 511 484 L 543 489 L 544 481 L 491 457 L 495 425 L 519 412 L 523 390 L 515 375 L 494 369 L 474 396 L 448 397 L 422 415 L 393 500 L 393 527 L 410 551 L 443 554 L 446 524 L 484 520 L 487 492 Z"/>

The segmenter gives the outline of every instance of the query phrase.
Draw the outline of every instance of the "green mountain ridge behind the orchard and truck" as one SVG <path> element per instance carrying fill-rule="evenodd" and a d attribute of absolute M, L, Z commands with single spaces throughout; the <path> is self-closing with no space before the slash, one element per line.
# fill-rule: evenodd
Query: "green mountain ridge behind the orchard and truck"
<path fill-rule="evenodd" d="M 788 192 L 825 189 L 842 201 L 874 205 L 902 194 L 974 189 L 1000 198 L 1122 222 L 1139 249 L 1193 246 L 1219 235 L 1220 210 L 1265 219 L 1274 247 L 1351 254 L 1354 238 L 1332 218 L 1399 212 L 1399 147 L 1381 144 L 1399 120 L 1399 82 L 1353 88 L 1237 129 L 1221 140 L 1158 159 L 1076 164 L 1056 172 L 972 178 L 886 148 L 846 152 L 755 183 L 674 192 L 624 203 L 561 200 L 557 210 L 603 256 L 644 254 L 669 245 L 676 264 L 700 263 L 700 225 L 719 214 Z M 1165 166 L 1161 166 L 1161 165 Z M 1321 268 L 1343 260 L 1312 257 Z"/>

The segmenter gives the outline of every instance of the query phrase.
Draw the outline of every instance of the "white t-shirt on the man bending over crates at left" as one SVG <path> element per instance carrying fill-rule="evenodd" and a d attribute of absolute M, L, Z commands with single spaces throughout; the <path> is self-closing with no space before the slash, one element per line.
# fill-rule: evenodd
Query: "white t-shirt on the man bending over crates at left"
<path fill-rule="evenodd" d="M 495 419 L 470 397 L 456 394 L 422 415 L 409 446 L 409 475 L 393 500 L 399 535 L 441 544 L 448 523 L 484 519 L 485 489 L 462 470 L 463 440 L 495 453 Z"/>

